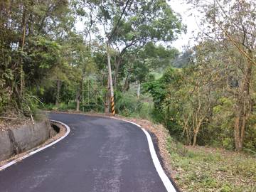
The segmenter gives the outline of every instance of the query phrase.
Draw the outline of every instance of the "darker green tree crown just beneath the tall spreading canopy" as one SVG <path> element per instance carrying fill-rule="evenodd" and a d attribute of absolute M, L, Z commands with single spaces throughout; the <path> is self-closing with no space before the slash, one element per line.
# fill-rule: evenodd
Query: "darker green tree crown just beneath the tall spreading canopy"
<path fill-rule="evenodd" d="M 156 46 L 152 42 L 146 43 L 143 48 L 130 48 L 124 53 L 124 65 L 119 69 L 119 78 L 124 78 L 122 90 L 129 90 L 130 83 L 140 84 L 150 80 L 151 73 L 168 68 L 177 55 L 175 48 Z"/>

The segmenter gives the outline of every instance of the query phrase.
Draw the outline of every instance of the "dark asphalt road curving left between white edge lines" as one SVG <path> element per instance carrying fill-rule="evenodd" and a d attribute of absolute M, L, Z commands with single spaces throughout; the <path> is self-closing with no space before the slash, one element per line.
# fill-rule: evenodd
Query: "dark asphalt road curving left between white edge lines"
<path fill-rule="evenodd" d="M 82 114 L 50 114 L 65 139 L 0 171 L 1 192 L 166 191 L 146 136 L 134 124 Z"/>

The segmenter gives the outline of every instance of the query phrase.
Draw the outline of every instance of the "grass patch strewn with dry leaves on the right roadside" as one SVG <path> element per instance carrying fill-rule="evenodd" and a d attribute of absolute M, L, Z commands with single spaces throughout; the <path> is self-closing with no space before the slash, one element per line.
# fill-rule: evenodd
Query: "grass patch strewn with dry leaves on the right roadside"
<path fill-rule="evenodd" d="M 256 158 L 168 138 L 174 179 L 182 191 L 256 192 Z"/>

